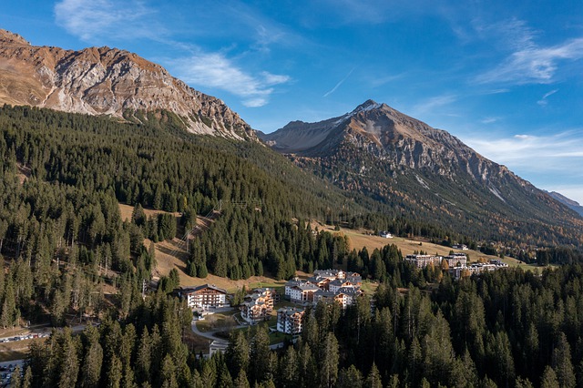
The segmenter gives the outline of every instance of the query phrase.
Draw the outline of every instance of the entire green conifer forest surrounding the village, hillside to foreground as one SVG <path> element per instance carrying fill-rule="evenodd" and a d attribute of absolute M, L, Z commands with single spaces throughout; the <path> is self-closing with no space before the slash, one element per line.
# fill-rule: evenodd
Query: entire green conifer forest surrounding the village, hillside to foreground
<path fill-rule="evenodd" d="M 555 271 L 452 281 L 439 268 L 414 269 L 394 246 L 351 250 L 307 220 L 478 237 L 369 214 L 384 208 L 343 196 L 261 145 L 188 135 L 176 119 L 0 109 L 0 325 L 99 321 L 32 346 L 14 386 L 583 385 L 578 251 L 540 250 L 542 264 L 564 264 Z M 131 220 L 121 219 L 120 202 L 135 207 Z M 176 278 L 142 294 L 156 266 L 144 239 L 171 239 L 219 203 L 220 217 L 190 247 L 191 276 L 289 279 L 345 263 L 380 282 L 373 308 L 369 297 L 345 311 L 319 304 L 285 349 L 271 351 L 259 325 L 234 332 L 225 355 L 199 357 L 182 342 L 192 316 L 172 296 Z M 143 208 L 168 213 L 147 217 Z"/>

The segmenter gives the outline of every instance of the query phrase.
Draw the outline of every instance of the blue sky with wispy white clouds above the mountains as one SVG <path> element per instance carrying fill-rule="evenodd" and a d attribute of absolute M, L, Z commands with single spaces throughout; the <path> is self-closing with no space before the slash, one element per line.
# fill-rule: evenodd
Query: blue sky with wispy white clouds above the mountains
<path fill-rule="evenodd" d="M 372 98 L 583 204 L 579 0 L 8 0 L 0 27 L 136 52 L 264 132 Z"/>

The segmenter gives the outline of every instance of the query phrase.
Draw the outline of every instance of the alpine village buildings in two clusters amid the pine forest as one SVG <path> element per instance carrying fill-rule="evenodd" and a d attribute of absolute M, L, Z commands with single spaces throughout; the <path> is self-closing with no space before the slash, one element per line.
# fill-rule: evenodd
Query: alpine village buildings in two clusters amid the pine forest
<path fill-rule="evenodd" d="M 460 248 L 461 249 L 461 248 Z M 418 269 L 427 266 L 440 267 L 448 271 L 452 279 L 459 280 L 472 274 L 496 271 L 508 267 L 502 260 L 492 259 L 488 262 L 468 263 L 465 253 L 450 253 L 447 256 L 410 254 L 404 260 Z M 210 356 L 214 352 L 225 352 L 228 342 L 212 334 L 199 332 L 197 322 L 202 321 L 217 311 L 230 311 L 237 323 L 244 328 L 260 322 L 274 323 L 272 333 L 281 333 L 284 338 L 293 339 L 302 333 L 302 322 L 309 307 L 318 302 L 338 303 L 344 310 L 357 298 L 363 296 L 363 279 L 359 273 L 343 270 L 316 270 L 312 276 L 301 279 L 294 277 L 287 281 L 280 291 L 272 287 L 254 288 L 243 297 L 239 306 L 231 306 L 228 291 L 210 284 L 198 287 L 182 288 L 179 296 L 185 299 L 194 312 L 193 332 L 210 339 Z M 281 290 L 282 289 L 282 290 Z M 283 291 L 281 293 L 281 291 Z M 276 310 L 276 306 L 279 308 Z M 371 300 L 371 311 L 374 301 Z M 275 320 L 273 320 L 275 317 Z M 275 322 L 273 322 L 275 321 Z M 283 345 L 277 342 L 271 345 L 276 349 Z"/>

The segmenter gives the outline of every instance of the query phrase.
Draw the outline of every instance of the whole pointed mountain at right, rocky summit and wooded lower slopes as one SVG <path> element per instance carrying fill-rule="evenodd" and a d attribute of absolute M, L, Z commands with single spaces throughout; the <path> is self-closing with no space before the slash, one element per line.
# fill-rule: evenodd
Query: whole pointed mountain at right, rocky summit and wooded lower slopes
<path fill-rule="evenodd" d="M 493 240 L 581 243 L 583 220 L 563 204 L 384 104 L 369 100 L 342 117 L 294 121 L 260 138 L 342 189 L 391 205 L 394 216 Z"/>

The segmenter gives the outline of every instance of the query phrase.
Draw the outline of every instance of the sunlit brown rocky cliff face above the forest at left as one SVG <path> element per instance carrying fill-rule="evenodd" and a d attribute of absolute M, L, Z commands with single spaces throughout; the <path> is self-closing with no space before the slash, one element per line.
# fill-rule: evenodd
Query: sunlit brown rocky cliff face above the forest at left
<path fill-rule="evenodd" d="M 138 111 L 168 110 L 193 133 L 255 138 L 220 99 L 136 54 L 109 47 L 31 46 L 5 30 L 0 30 L 0 103 L 133 119 L 145 116 L 135 115 Z"/>

